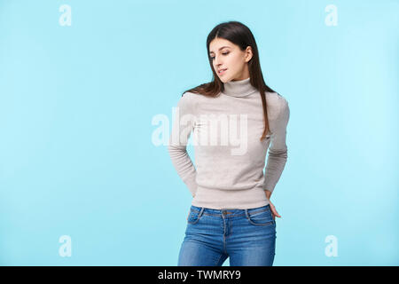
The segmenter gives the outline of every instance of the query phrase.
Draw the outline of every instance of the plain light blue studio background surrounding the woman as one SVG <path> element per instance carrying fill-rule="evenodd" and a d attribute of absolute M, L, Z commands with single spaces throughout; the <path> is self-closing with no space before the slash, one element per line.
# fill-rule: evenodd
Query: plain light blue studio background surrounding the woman
<path fill-rule="evenodd" d="M 182 92 L 211 80 L 206 37 L 226 20 L 251 28 L 291 109 L 274 264 L 399 264 L 398 11 L 395 0 L 0 1 L 0 264 L 176 265 L 192 197 L 153 145 L 152 119 L 171 120 Z"/>

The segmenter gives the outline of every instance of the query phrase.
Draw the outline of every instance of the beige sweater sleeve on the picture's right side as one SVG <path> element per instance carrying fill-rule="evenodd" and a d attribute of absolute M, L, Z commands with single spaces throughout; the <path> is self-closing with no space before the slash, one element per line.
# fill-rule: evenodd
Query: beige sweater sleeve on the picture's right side
<path fill-rule="evenodd" d="M 286 126 L 290 117 L 288 102 L 279 96 L 279 113 L 276 123 L 271 131 L 269 156 L 265 168 L 263 189 L 273 192 L 278 179 L 286 166 Z"/>

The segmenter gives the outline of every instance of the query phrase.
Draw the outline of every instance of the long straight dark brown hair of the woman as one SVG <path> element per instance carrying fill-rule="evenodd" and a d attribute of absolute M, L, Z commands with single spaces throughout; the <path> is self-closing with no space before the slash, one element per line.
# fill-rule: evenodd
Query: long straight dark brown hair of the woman
<path fill-rule="evenodd" d="M 212 64 L 212 59 L 209 56 L 209 44 L 216 38 L 224 38 L 231 43 L 234 43 L 239 46 L 241 51 L 245 51 L 247 46 L 251 46 L 253 51 L 252 58 L 248 61 L 248 69 L 250 76 L 250 83 L 256 88 L 261 95 L 262 98 L 262 106 L 263 106 L 263 121 L 264 121 L 264 130 L 261 137 L 261 141 L 269 132 L 269 120 L 268 120 L 268 112 L 266 105 L 266 96 L 265 91 L 275 92 L 273 91 L 265 82 L 262 75 L 261 64 L 259 61 L 259 52 L 256 42 L 254 40 L 254 35 L 251 30 L 246 27 L 246 25 L 240 23 L 239 21 L 228 21 L 223 22 L 217 25 L 215 28 L 211 30 L 209 35 L 207 36 L 207 57 L 209 59 L 209 65 L 212 69 L 213 80 L 209 83 L 202 83 L 199 86 L 192 88 L 190 91 L 192 93 L 198 93 L 207 97 L 217 97 L 221 91 L 224 91 L 223 82 L 219 79 L 219 76 L 216 74 L 214 66 Z M 184 91 L 182 96 L 184 95 Z"/>

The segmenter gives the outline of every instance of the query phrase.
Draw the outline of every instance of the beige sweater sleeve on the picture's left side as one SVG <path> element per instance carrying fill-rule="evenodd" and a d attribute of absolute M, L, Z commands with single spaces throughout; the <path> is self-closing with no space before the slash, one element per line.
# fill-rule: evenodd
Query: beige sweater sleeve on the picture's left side
<path fill-rule="evenodd" d="M 184 93 L 177 103 L 172 132 L 169 137 L 168 153 L 178 176 L 187 185 L 192 197 L 197 191 L 196 174 L 192 159 L 187 153 L 187 142 L 194 130 L 195 116 L 192 113 L 192 98 Z"/>

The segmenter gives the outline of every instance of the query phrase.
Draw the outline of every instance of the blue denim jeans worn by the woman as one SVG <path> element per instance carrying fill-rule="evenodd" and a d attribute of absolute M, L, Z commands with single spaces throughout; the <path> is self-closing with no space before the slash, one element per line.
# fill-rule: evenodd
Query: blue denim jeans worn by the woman
<path fill-rule="evenodd" d="M 178 266 L 271 266 L 276 222 L 270 205 L 253 209 L 207 209 L 193 206 L 180 248 Z"/>

